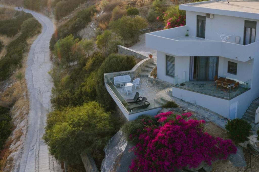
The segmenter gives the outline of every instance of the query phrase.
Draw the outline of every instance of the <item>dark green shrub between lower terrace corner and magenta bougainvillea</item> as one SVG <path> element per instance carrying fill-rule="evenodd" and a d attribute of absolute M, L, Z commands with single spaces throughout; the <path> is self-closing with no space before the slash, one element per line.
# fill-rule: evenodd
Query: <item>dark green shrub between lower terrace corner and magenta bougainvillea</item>
<path fill-rule="evenodd" d="M 150 117 L 148 115 L 141 115 L 138 116 L 138 118 L 136 118 L 134 121 L 125 123 L 121 127 L 121 130 L 128 142 L 136 144 L 139 142 L 139 134 L 141 133 L 140 130 L 142 131 L 145 126 L 157 124 L 157 120 L 154 117 Z"/>

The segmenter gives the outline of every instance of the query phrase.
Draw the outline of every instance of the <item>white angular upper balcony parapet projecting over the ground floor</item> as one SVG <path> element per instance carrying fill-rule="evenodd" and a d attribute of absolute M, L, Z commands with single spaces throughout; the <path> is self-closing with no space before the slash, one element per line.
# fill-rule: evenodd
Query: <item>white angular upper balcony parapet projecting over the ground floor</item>
<path fill-rule="evenodd" d="M 146 34 L 146 47 L 176 56 L 222 56 L 246 62 L 259 53 L 259 41 L 248 45 L 185 36 L 188 26 Z"/>

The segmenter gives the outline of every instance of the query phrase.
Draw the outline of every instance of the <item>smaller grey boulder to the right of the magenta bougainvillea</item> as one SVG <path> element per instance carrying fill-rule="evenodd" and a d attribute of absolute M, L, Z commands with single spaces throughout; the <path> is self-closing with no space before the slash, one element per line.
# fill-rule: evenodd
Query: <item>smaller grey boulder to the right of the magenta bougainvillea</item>
<path fill-rule="evenodd" d="M 229 154 L 227 159 L 232 162 L 235 167 L 246 167 L 243 148 L 241 146 L 236 146 L 236 148 L 238 149 L 236 154 Z"/>

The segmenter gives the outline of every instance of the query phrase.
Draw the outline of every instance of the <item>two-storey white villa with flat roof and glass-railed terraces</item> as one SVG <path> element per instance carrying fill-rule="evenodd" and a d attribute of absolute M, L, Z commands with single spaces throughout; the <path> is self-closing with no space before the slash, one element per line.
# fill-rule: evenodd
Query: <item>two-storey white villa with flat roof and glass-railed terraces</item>
<path fill-rule="evenodd" d="M 166 83 L 171 96 L 223 117 L 258 122 L 255 112 L 259 105 L 259 2 L 205 1 L 179 5 L 179 9 L 186 10 L 186 26 L 146 34 L 146 47 L 157 50 L 156 83 Z M 130 71 L 125 72 L 120 75 Z M 113 77 L 109 75 L 105 74 L 105 80 L 109 78 L 112 83 Z M 132 80 L 136 77 L 135 73 Z M 153 79 L 149 75 L 148 80 Z M 163 88 L 167 91 L 168 87 Z M 154 101 L 147 109 L 129 111 L 118 98 L 127 98 L 120 88 L 111 91 L 107 80 L 106 88 L 128 120 L 143 111 L 152 113 L 161 108 Z M 141 89 L 145 88 L 140 86 L 136 91 Z M 156 93 L 153 99 L 162 100 L 155 97 L 161 93 Z"/>

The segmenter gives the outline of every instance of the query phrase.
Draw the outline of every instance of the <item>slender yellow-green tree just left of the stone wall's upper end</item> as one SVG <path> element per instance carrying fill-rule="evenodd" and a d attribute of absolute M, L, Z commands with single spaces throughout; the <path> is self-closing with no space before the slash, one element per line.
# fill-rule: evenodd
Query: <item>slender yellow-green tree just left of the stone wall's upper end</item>
<path fill-rule="evenodd" d="M 117 52 L 117 46 L 121 45 L 117 37 L 112 34 L 110 30 L 105 30 L 103 34 L 97 36 L 96 45 L 97 48 L 103 53 L 104 56 L 108 56 L 111 53 Z"/>

